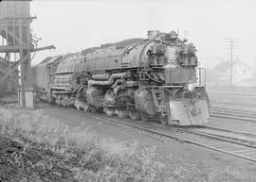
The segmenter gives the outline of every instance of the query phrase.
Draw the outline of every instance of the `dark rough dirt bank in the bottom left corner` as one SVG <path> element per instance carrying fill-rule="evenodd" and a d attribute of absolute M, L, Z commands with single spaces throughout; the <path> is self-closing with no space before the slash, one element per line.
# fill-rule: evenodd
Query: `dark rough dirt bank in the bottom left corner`
<path fill-rule="evenodd" d="M 0 182 L 73 181 L 72 173 L 57 163 L 46 167 L 47 158 L 54 158 L 48 150 L 26 148 L 20 142 L 0 136 L 0 154 Z"/>

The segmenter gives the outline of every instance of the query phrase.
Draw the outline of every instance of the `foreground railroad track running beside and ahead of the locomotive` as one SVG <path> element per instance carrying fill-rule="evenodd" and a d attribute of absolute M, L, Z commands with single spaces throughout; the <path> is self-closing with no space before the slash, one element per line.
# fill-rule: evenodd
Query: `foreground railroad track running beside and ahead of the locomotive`
<path fill-rule="evenodd" d="M 130 119 L 120 119 L 103 114 L 85 113 L 86 116 L 148 133 L 160 139 L 188 142 L 234 157 L 256 162 L 256 135 L 216 127 L 177 127 L 160 124 L 141 124 Z"/>

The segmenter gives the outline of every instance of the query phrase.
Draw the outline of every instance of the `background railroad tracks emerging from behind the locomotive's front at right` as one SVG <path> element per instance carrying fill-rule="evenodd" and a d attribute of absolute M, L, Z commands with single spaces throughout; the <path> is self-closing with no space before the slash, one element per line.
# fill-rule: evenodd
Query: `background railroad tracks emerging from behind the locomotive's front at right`
<path fill-rule="evenodd" d="M 246 122 L 256 122 L 256 113 L 246 109 L 212 107 L 210 116 Z"/>

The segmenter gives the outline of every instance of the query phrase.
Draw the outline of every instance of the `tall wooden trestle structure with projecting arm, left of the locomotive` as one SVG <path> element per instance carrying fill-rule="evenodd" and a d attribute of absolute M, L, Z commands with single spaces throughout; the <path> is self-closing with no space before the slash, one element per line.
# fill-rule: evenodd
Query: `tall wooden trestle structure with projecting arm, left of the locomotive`
<path fill-rule="evenodd" d="M 0 83 L 8 81 L 18 88 L 19 105 L 33 108 L 33 90 L 31 84 L 31 53 L 54 48 L 47 46 L 36 48 L 30 32 L 30 24 L 36 17 L 30 16 L 28 0 L 2 1 L 0 3 L 0 54 L 8 69 L 0 67 Z M 20 81 L 12 73 L 20 71 Z"/>

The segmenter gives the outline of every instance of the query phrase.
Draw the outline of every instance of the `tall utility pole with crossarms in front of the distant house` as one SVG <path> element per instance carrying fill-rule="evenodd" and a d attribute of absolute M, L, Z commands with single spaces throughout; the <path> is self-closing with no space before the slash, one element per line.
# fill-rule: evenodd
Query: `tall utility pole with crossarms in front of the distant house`
<path fill-rule="evenodd" d="M 230 78 L 229 84 L 233 85 L 233 50 L 237 48 L 238 38 L 226 38 L 225 41 L 225 49 L 229 49 L 230 53 Z"/>

